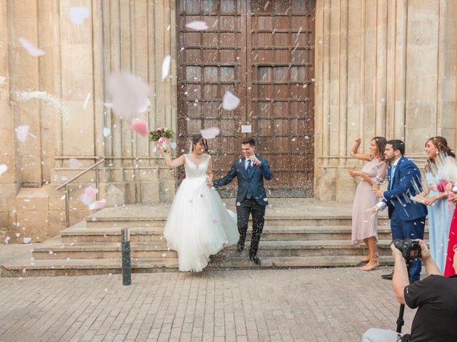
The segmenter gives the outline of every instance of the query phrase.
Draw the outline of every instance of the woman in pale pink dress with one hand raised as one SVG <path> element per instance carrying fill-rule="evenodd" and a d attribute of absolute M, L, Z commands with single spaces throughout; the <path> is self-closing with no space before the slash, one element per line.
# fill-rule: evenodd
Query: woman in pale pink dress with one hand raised
<path fill-rule="evenodd" d="M 359 153 L 361 139 L 354 140 L 351 155 L 359 160 L 368 162 L 362 170 L 349 170 L 352 177 L 361 177 L 354 197 L 352 208 L 352 237 L 351 243 L 358 246 L 364 242 L 368 247 L 368 255 L 361 259 L 368 262 L 361 267 L 362 271 L 371 271 L 379 266 L 378 261 L 378 216 L 371 212 L 371 207 L 378 203 L 373 195 L 373 188 L 379 189 L 386 180 L 387 162 L 384 157 L 386 138 L 375 137 L 370 142 L 370 153 Z"/>

